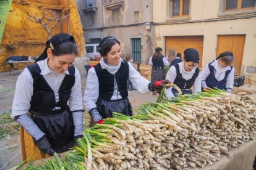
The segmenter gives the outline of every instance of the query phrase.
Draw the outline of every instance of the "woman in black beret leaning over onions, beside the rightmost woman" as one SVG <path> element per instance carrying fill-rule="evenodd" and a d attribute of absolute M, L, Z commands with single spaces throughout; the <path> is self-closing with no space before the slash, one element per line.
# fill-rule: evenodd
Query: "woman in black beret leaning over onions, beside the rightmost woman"
<path fill-rule="evenodd" d="M 198 68 L 199 54 L 196 49 L 186 49 L 184 51 L 184 62 L 173 65 L 166 79 L 176 84 L 182 91 L 182 94 L 192 94 L 191 87 L 194 87 L 193 94 L 201 91 L 200 70 Z M 166 89 L 165 95 L 168 98 L 176 97 L 177 90 L 174 88 Z"/>

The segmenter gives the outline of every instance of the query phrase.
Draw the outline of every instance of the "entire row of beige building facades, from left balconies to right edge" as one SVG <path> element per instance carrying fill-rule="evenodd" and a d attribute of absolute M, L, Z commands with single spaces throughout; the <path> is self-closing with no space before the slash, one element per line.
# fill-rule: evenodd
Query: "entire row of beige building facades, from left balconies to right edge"
<path fill-rule="evenodd" d="M 158 46 L 169 59 L 193 47 L 200 68 L 232 51 L 235 74 L 256 84 L 255 0 L 87 0 L 80 9 L 87 42 L 115 36 L 140 63 Z"/>

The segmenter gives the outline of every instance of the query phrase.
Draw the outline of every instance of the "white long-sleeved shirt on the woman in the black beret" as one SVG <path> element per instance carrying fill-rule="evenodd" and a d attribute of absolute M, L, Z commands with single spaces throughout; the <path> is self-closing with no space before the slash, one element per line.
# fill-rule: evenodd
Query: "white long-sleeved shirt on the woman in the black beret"
<path fill-rule="evenodd" d="M 190 78 L 192 78 L 192 76 L 195 73 L 195 68 L 192 71 L 186 71 L 184 69 L 184 62 L 181 63 L 177 63 L 179 65 L 179 70 L 180 73 L 182 75 L 182 78 L 189 80 Z M 166 79 L 168 79 L 169 81 L 171 81 L 172 83 L 174 83 L 174 80 L 176 79 L 177 76 L 177 72 L 176 72 L 176 68 L 174 66 L 172 66 L 169 71 L 167 72 L 166 75 Z M 173 92 L 171 91 L 172 87 L 169 89 L 166 89 L 165 91 L 165 95 L 168 98 L 172 98 L 175 97 Z M 197 92 L 201 91 L 201 78 L 200 78 L 200 73 L 197 76 L 197 78 L 195 78 L 195 82 L 193 84 L 193 94 L 197 94 Z"/>

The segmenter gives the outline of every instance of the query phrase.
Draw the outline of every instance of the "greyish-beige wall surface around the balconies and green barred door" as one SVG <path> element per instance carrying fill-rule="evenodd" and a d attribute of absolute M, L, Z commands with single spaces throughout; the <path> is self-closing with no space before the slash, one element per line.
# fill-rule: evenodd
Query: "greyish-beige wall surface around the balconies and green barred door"
<path fill-rule="evenodd" d="M 82 18 L 84 23 L 83 31 L 87 42 L 90 38 L 104 38 L 105 36 L 115 36 L 121 42 L 123 57 L 131 54 L 131 39 L 141 39 L 141 62 L 147 63 L 153 54 L 152 45 L 155 44 L 155 35 L 152 34 L 150 22 L 153 20 L 152 0 L 123 1 L 119 10 L 119 23 L 113 22 L 113 10 L 108 9 L 101 0 L 96 0 L 97 12 L 94 13 L 95 22 L 89 25 L 88 14 Z M 113 2 L 113 1 L 112 1 Z M 84 5 L 82 5 L 84 6 Z M 81 9 L 81 8 L 80 8 Z M 134 12 L 139 12 L 139 21 L 134 21 Z M 145 26 L 144 23 L 147 23 Z"/>

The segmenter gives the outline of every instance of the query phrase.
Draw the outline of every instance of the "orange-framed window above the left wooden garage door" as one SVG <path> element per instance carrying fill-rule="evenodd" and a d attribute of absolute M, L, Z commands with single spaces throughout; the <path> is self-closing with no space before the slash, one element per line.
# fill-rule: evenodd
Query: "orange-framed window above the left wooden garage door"
<path fill-rule="evenodd" d="M 171 17 L 189 16 L 190 0 L 171 0 Z"/>

